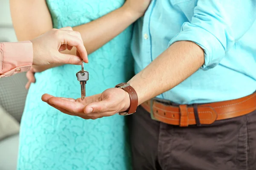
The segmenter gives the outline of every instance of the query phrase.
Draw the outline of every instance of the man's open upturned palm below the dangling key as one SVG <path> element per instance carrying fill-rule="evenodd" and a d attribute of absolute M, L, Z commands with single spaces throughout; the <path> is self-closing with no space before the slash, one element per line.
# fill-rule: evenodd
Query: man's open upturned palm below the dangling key
<path fill-rule="evenodd" d="M 130 107 L 129 94 L 120 88 L 109 88 L 102 94 L 81 99 L 54 97 L 44 94 L 42 100 L 59 111 L 83 119 L 97 119 L 112 116 Z"/>

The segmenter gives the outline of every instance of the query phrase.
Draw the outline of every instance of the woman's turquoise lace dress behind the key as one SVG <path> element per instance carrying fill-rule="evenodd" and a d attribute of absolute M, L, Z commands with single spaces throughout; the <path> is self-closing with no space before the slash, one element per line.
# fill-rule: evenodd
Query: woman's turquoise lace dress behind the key
<path fill-rule="evenodd" d="M 47 0 L 55 28 L 79 26 L 119 8 L 124 0 Z M 109 23 L 111 24 L 111 23 Z M 90 34 L 90 32 L 88 32 Z M 89 55 L 87 96 L 133 75 L 131 27 Z M 125 117 L 96 120 L 69 116 L 41 101 L 42 94 L 80 97 L 79 65 L 63 65 L 35 74 L 20 129 L 18 170 L 129 170 Z"/>

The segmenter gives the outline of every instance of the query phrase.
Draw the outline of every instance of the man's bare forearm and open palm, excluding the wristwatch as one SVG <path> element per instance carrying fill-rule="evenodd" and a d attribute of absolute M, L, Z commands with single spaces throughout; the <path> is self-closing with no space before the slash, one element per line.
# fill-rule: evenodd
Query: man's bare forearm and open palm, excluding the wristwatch
<path fill-rule="evenodd" d="M 175 87 L 203 64 L 204 51 L 202 48 L 194 42 L 175 42 L 128 83 L 137 92 L 138 105 L 140 105 Z M 120 111 L 126 111 L 130 106 L 128 93 L 119 88 L 110 88 L 102 94 L 85 97 L 84 101 L 81 99 L 66 100 L 49 94 L 42 96 L 42 100 L 63 113 L 83 119 L 111 116 Z"/>

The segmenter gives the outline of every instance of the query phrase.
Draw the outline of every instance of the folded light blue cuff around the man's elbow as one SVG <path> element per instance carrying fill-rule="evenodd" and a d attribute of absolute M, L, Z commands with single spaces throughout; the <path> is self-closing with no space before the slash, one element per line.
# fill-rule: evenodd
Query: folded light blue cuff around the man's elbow
<path fill-rule="evenodd" d="M 204 65 L 201 67 L 203 70 L 218 65 L 225 55 L 224 47 L 213 34 L 188 22 L 183 24 L 180 33 L 169 42 L 169 46 L 177 41 L 192 41 L 204 50 Z"/>

